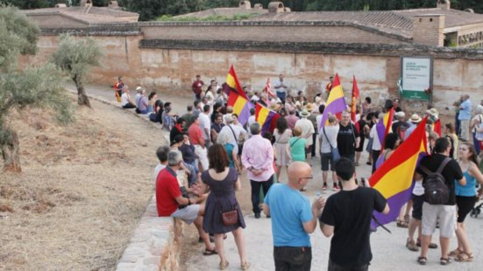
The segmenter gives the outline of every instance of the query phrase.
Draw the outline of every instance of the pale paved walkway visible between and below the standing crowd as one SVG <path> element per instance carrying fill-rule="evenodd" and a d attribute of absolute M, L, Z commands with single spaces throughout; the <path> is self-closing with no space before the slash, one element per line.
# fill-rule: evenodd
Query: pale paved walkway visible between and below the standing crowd
<path fill-rule="evenodd" d="M 89 94 L 103 96 L 108 99 L 114 99 L 114 91 L 109 87 L 87 86 L 86 91 Z M 158 95 L 163 101 L 171 101 L 175 112 L 184 113 L 186 105 L 192 103 L 189 97 L 179 96 L 165 96 Z M 366 161 L 367 153 L 363 154 L 361 161 Z M 314 179 L 307 186 L 307 195 L 312 200 L 315 192 L 320 191 L 322 186 L 321 172 L 318 169 L 319 159 L 312 160 L 314 165 Z M 371 168 L 369 165 L 361 162 L 357 167 L 357 174 L 359 176 L 370 176 Z M 281 181 L 286 182 L 284 178 L 285 172 L 282 171 Z M 244 187 L 249 187 L 248 181 L 244 180 Z M 330 177 L 329 177 L 330 180 Z M 332 191 L 323 192 L 324 197 L 332 194 Z M 264 218 L 255 219 L 253 214 L 245 216 L 247 228 L 245 229 L 246 248 L 248 260 L 252 263 L 251 270 L 274 270 L 273 263 L 273 242 L 271 238 L 271 223 L 270 219 Z M 372 270 L 481 270 L 483 267 L 483 215 L 477 219 L 467 217 L 466 219 L 469 240 L 475 258 L 470 263 L 452 262 L 449 266 L 439 265 L 440 250 L 430 250 L 428 253 L 427 266 L 420 266 L 416 263 L 416 257 L 419 255 L 416 252 L 410 252 L 406 249 L 407 229 L 397 228 L 396 223 L 391 223 L 387 227 L 392 233 L 388 233 L 383 229 L 371 235 L 371 246 L 373 252 L 373 261 L 371 264 Z M 437 234 L 433 241 L 437 243 Z M 320 230 L 317 228 L 315 233 L 311 235 L 312 242 L 312 270 L 326 270 L 328 261 L 328 251 L 330 247 L 330 239 L 325 238 Z M 456 248 L 456 237 L 451 239 L 451 250 Z M 228 270 L 239 270 L 239 258 L 233 236 L 228 234 L 225 241 L 225 251 L 230 262 Z M 201 253 L 197 256 L 189 258 L 186 265 L 188 270 L 215 270 L 218 269 L 218 256 L 202 256 Z M 479 267 L 478 267 L 479 266 Z"/>

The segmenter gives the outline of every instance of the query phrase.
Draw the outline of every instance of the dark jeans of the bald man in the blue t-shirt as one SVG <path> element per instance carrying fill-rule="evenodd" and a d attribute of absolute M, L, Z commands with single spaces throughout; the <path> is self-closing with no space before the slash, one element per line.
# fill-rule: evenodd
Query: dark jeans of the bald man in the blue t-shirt
<path fill-rule="evenodd" d="M 311 247 L 274 247 L 276 271 L 309 271 L 312 264 Z"/>

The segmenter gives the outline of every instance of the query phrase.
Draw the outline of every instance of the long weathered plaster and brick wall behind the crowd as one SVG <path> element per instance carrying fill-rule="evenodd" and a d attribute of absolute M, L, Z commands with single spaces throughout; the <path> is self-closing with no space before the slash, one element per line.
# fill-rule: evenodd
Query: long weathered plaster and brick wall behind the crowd
<path fill-rule="evenodd" d="M 461 93 L 469 93 L 475 101 L 483 98 L 481 49 L 409 44 L 146 39 L 144 35 L 149 27 L 155 26 L 140 23 L 69 29 L 69 32 L 79 38 L 92 36 L 104 49 L 102 67 L 91 75 L 97 84 L 111 85 L 122 75 L 131 88 L 142 84 L 161 93 L 190 95 L 196 74 L 202 75 L 205 82 L 216 78 L 223 83 L 229 66 L 234 64 L 240 81 L 250 83 L 253 89 L 262 89 L 268 77 L 274 81 L 283 73 L 292 90 L 304 90 L 312 95 L 327 84 L 330 75 L 339 73 L 347 95 L 355 75 L 361 96 L 379 101 L 398 95 L 396 82 L 400 77 L 401 56 L 432 56 L 434 104 L 442 114 L 450 114 L 445 108 L 451 108 Z M 22 57 L 20 62 L 46 61 L 57 46 L 56 35 L 64 31 L 43 29 L 39 54 Z M 201 36 L 205 34 L 202 29 L 196 31 L 199 35 L 203 33 Z M 149 35 L 156 37 L 154 32 Z M 172 37 L 173 33 L 159 35 Z M 403 101 L 403 105 L 419 112 L 426 106 L 413 101 Z"/>

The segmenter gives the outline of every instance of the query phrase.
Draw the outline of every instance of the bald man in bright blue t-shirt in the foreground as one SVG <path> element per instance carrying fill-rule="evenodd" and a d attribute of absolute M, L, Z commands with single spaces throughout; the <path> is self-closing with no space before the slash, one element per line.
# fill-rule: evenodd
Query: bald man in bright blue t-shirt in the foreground
<path fill-rule="evenodd" d="M 293 162 L 287 168 L 288 183 L 277 183 L 265 196 L 263 212 L 271 216 L 276 270 L 310 270 L 312 249 L 309 233 L 317 226 L 317 217 L 325 204 L 317 197 L 309 199 L 299 192 L 312 180 L 312 168 L 305 162 Z"/>

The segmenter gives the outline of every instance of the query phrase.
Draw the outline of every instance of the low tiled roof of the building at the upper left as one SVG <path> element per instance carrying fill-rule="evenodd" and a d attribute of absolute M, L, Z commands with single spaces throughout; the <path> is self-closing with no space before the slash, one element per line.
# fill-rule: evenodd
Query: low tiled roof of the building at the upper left
<path fill-rule="evenodd" d="M 86 13 L 86 11 L 88 12 Z M 58 14 L 86 24 L 132 22 L 137 21 L 139 17 L 139 14 L 134 12 L 99 7 L 92 7 L 90 9 L 83 7 L 47 8 L 22 10 L 22 12 L 27 16 Z"/>

